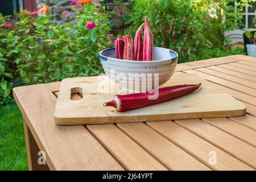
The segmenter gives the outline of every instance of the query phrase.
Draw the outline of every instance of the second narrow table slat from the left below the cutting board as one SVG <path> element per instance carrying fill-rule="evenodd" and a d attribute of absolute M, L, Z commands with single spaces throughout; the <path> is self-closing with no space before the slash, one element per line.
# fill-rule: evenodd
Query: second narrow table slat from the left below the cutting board
<path fill-rule="evenodd" d="M 117 126 L 170 170 L 210 170 L 144 123 L 120 123 Z"/>

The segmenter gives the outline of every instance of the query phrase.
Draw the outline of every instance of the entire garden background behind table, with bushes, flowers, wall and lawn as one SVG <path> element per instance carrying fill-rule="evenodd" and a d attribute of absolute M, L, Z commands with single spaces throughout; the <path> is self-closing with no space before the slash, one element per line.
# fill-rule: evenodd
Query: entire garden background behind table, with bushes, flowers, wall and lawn
<path fill-rule="evenodd" d="M 255 44 L 255 0 L 0 0 L 0 170 L 28 169 L 12 89 L 101 74 L 98 52 L 134 36 L 144 16 L 154 46 L 177 51 L 179 63 Z"/>

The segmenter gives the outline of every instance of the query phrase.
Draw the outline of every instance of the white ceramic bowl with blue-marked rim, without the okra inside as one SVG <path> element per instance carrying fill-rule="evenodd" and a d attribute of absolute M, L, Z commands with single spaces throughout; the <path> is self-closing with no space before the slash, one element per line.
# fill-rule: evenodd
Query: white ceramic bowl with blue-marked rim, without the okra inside
<path fill-rule="evenodd" d="M 115 48 L 104 49 L 99 55 L 106 75 L 122 90 L 132 93 L 155 89 L 167 82 L 178 59 L 177 52 L 160 47 L 154 47 L 152 61 L 116 59 Z"/>

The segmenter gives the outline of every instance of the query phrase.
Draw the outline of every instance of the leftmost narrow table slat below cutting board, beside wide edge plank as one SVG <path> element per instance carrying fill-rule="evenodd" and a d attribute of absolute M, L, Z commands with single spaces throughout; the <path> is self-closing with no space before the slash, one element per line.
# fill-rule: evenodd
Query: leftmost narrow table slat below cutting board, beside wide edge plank
<path fill-rule="evenodd" d="M 126 170 L 167 170 L 113 124 L 86 127 Z"/>

